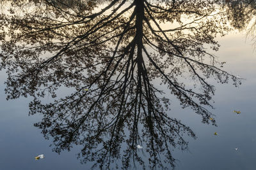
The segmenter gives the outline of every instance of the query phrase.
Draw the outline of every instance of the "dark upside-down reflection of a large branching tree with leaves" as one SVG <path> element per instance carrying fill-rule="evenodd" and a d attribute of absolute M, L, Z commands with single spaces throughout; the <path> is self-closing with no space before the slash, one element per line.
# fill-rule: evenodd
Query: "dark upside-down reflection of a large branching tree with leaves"
<path fill-rule="evenodd" d="M 204 48 L 218 50 L 226 15 L 216 1 L 72 2 L 14 1 L 1 14 L 7 99 L 34 97 L 30 114 L 44 116 L 35 126 L 58 153 L 81 145 L 81 162 L 100 169 L 116 160 L 123 169 L 174 167 L 173 148 L 186 149 L 183 135 L 195 134 L 167 114 L 161 88 L 216 125 L 204 108 L 214 94 L 207 78 L 239 84 Z M 74 92 L 58 97 L 61 87 Z M 43 102 L 47 94 L 54 101 Z"/>

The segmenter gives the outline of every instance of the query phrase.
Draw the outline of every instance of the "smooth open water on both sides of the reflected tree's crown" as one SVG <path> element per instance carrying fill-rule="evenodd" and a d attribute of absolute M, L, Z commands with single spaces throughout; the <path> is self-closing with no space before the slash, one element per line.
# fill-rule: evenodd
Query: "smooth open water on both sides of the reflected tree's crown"
<path fill-rule="evenodd" d="M 218 127 L 205 125 L 188 108 L 174 106 L 172 116 L 180 118 L 195 131 L 197 139 L 188 138 L 189 150 L 173 154 L 179 159 L 176 169 L 254 169 L 256 159 L 256 57 L 252 42 L 244 32 L 218 38 L 221 48 L 216 55 L 227 61 L 225 69 L 245 80 L 238 88 L 216 84 L 214 114 Z M 1 71 L 0 167 L 1 169 L 89 169 L 76 159 L 79 148 L 58 155 L 51 141 L 33 126 L 40 115 L 28 116 L 28 98 L 6 101 Z M 65 92 L 63 92 L 65 93 Z M 240 110 L 241 114 L 233 111 Z M 218 132 L 218 136 L 214 136 Z M 237 150 L 235 150 L 237 148 Z M 35 161 L 36 155 L 45 158 Z"/>

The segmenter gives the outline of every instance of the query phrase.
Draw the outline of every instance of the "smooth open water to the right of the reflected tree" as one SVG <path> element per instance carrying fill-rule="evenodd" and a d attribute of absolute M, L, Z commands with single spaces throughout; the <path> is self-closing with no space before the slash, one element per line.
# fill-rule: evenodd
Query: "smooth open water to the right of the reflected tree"
<path fill-rule="evenodd" d="M 227 60 L 227 69 L 245 80 L 238 88 L 216 85 L 214 113 L 218 127 L 200 124 L 188 110 L 182 113 L 198 139 L 190 141 L 189 152 L 177 152 L 177 169 L 255 169 L 255 51 L 243 33 L 229 34 L 220 39 L 220 44 L 218 56 Z M 234 110 L 241 110 L 241 114 Z"/>

